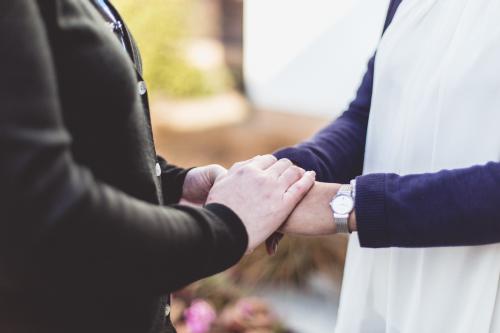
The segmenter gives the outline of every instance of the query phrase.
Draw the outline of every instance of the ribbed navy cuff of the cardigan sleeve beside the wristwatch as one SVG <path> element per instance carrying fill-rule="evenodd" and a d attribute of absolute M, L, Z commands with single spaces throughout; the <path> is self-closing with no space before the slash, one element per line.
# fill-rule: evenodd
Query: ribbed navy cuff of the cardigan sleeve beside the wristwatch
<path fill-rule="evenodd" d="M 385 209 L 385 175 L 356 178 L 356 224 L 362 247 L 381 248 L 391 244 Z"/>

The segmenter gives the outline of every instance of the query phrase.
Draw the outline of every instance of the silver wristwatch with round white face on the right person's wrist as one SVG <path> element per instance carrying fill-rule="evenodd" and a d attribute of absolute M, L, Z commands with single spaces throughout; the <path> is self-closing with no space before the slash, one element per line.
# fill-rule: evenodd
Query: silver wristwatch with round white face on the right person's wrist
<path fill-rule="evenodd" d="M 337 233 L 350 233 L 349 215 L 354 210 L 355 188 L 355 181 L 352 181 L 349 185 L 342 185 L 335 197 L 333 197 L 332 202 L 330 202 Z"/>

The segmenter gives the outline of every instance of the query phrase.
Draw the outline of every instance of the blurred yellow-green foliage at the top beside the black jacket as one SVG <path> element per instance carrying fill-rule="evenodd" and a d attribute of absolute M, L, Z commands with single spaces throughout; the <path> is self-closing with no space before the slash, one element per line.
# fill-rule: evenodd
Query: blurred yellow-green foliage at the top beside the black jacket
<path fill-rule="evenodd" d="M 137 40 L 150 90 L 170 97 L 213 94 L 230 85 L 224 69 L 204 72 L 184 58 L 190 13 L 198 0 L 114 0 Z"/>

